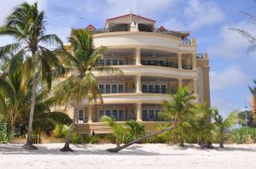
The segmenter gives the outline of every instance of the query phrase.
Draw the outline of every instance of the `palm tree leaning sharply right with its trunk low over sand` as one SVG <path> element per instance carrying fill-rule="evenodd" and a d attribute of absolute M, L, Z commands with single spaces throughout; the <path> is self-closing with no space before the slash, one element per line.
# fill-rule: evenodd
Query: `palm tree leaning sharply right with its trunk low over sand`
<path fill-rule="evenodd" d="M 190 93 L 189 87 L 178 87 L 177 93 L 171 93 L 171 97 L 171 101 L 165 100 L 163 102 L 163 110 L 160 113 L 160 116 L 162 116 L 164 120 L 170 122 L 170 127 L 166 127 L 159 132 L 154 132 L 141 138 L 137 138 L 136 140 L 133 140 L 128 144 L 124 144 L 122 146 L 107 150 L 109 152 L 117 153 L 119 152 L 119 150 L 125 149 L 132 144 L 141 143 L 144 139 L 156 136 L 160 133 L 170 131 L 172 129 L 177 129 L 177 127 L 184 128 L 187 124 L 189 124 L 189 119 L 193 118 L 193 115 L 195 115 L 195 109 L 192 108 L 193 106 L 191 103 L 193 100 L 195 100 L 195 96 Z M 180 139 L 180 141 L 183 145 L 183 139 Z"/>

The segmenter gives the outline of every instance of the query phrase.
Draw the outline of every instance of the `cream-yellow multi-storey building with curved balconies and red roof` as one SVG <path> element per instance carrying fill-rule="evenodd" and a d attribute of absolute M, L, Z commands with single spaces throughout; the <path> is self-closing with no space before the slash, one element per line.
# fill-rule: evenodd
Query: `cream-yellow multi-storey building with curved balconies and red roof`
<path fill-rule="evenodd" d="M 154 20 L 135 14 L 108 19 L 104 29 L 85 29 L 93 33 L 96 48 L 108 47 L 101 64 L 119 68 L 124 76 L 96 75 L 104 104 L 84 101 L 68 110 L 75 115 L 77 132 L 110 132 L 99 122 L 102 115 L 119 123 L 134 118 L 152 130 L 161 121 L 161 102 L 179 86 L 189 85 L 197 102 L 210 106 L 208 57 L 197 54 L 190 32 L 155 28 Z"/>

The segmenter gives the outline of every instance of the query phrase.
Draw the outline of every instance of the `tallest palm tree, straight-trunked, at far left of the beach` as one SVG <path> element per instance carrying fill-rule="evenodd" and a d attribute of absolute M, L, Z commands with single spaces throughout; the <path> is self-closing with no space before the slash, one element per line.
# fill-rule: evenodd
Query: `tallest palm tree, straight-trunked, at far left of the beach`
<path fill-rule="evenodd" d="M 54 34 L 45 35 L 45 13 L 38 10 L 38 3 L 22 3 L 10 14 L 0 27 L 0 35 L 15 37 L 16 42 L 0 48 L 0 51 L 17 51 L 14 59 L 24 58 L 21 84 L 26 90 L 27 82 L 32 79 L 32 98 L 29 125 L 24 149 L 37 149 L 32 145 L 32 121 L 39 82 L 51 87 L 53 68 L 63 70 L 59 59 L 44 44 L 62 46 L 61 40 Z M 59 68 L 59 69 L 58 69 Z M 42 84 L 41 84 L 42 85 Z"/>

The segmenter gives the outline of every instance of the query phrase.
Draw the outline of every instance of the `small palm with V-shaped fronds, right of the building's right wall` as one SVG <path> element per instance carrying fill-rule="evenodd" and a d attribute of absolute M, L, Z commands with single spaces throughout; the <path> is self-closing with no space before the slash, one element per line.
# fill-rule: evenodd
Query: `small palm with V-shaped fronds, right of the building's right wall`
<path fill-rule="evenodd" d="M 218 144 L 220 148 L 224 148 L 224 141 L 226 139 L 226 133 L 233 127 L 237 120 L 237 112 L 232 111 L 226 119 L 222 115 L 218 114 L 218 110 L 213 110 L 213 123 L 216 125 L 216 132 L 218 134 Z"/>

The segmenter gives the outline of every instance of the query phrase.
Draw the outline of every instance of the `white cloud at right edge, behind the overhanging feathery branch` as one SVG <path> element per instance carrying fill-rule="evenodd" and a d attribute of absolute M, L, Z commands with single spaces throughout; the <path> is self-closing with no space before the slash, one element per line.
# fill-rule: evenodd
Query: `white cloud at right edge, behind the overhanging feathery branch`
<path fill-rule="evenodd" d="M 249 43 L 246 38 L 241 37 L 237 31 L 230 28 L 239 28 L 256 35 L 255 25 L 250 22 L 241 21 L 237 24 L 224 25 L 218 33 L 218 42 L 212 43 L 207 51 L 212 56 L 224 58 L 242 58 L 247 55 Z M 256 52 L 248 54 L 256 59 Z"/>

